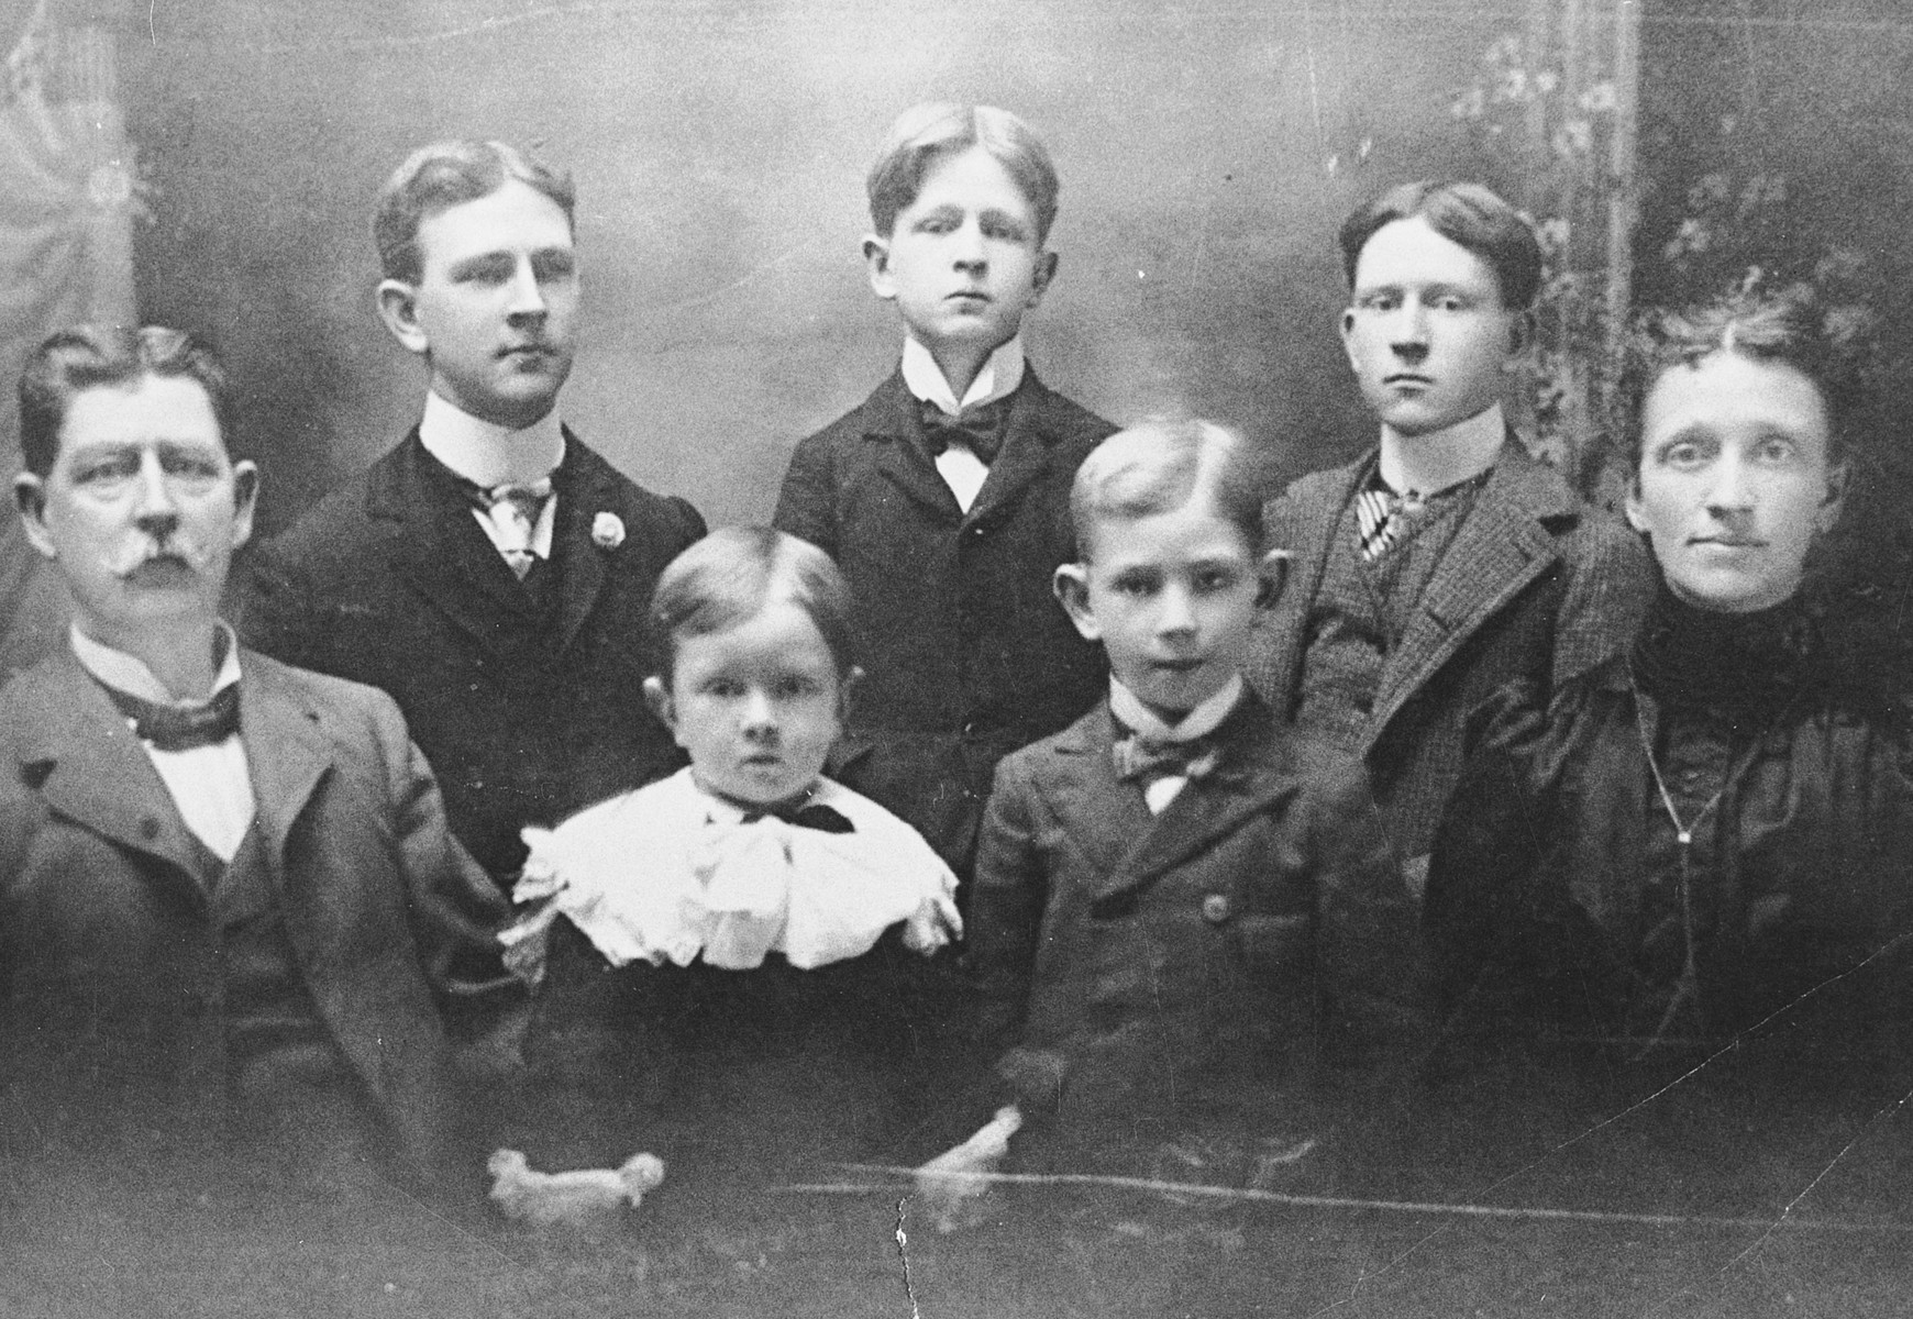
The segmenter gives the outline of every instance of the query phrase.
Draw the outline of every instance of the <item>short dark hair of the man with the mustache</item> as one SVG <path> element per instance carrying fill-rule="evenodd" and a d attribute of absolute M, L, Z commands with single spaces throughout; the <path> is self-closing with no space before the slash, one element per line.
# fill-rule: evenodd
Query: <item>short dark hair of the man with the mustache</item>
<path fill-rule="evenodd" d="M 19 375 L 19 451 L 27 470 L 42 480 L 52 474 L 59 428 L 77 394 L 130 388 L 145 377 L 197 380 L 212 400 L 220 434 L 231 430 L 226 371 L 207 344 L 165 325 L 75 325 L 34 348 Z"/>

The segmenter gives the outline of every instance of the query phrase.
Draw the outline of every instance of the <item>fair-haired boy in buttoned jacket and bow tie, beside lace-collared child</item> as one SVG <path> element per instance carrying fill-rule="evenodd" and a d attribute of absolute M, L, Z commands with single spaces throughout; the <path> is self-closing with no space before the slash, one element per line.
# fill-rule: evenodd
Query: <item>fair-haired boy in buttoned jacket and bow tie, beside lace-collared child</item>
<path fill-rule="evenodd" d="M 1014 1042 L 997 1076 L 1092 1162 L 1293 1132 L 1318 1040 L 1372 1057 L 1414 1025 L 1410 895 L 1362 767 L 1242 679 L 1280 558 L 1243 442 L 1125 430 L 1071 512 L 1056 595 L 1111 677 L 997 770 L 970 916 L 983 1027 Z"/>

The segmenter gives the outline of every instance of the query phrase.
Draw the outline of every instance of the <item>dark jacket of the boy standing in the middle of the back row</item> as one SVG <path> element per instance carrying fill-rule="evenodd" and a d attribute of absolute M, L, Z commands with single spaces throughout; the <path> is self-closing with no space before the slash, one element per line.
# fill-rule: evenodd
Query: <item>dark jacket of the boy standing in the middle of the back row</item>
<path fill-rule="evenodd" d="M 1102 652 L 1077 637 L 1050 575 L 1075 558 L 1075 470 L 1113 430 L 1025 375 L 964 512 L 922 445 L 899 371 L 790 459 L 775 522 L 821 545 L 857 600 L 865 677 L 836 772 L 958 874 L 997 759 L 1102 694 Z"/>

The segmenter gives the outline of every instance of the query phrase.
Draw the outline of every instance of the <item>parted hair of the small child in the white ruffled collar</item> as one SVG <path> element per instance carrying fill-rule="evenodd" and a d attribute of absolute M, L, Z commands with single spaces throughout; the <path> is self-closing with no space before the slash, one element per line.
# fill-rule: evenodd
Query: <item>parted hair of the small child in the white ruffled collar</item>
<path fill-rule="evenodd" d="M 670 684 L 677 646 L 796 604 L 823 635 L 838 673 L 853 660 L 849 585 L 809 541 L 765 526 L 719 528 L 673 558 L 650 595 L 652 667 Z"/>

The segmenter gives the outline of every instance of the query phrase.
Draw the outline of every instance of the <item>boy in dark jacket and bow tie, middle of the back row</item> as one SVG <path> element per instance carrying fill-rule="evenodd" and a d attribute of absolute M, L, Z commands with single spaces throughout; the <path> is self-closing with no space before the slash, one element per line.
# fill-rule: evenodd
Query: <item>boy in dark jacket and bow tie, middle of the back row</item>
<path fill-rule="evenodd" d="M 870 168 L 863 241 L 903 361 L 790 459 L 775 524 L 857 600 L 865 677 L 842 778 L 968 877 L 989 776 L 1102 690 L 1050 598 L 1075 556 L 1069 476 L 1110 426 L 1037 380 L 1022 323 L 1056 275 L 1056 170 L 987 105 L 905 111 Z"/>

